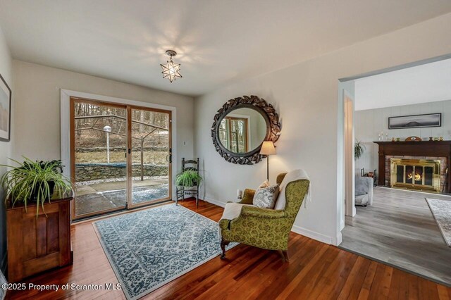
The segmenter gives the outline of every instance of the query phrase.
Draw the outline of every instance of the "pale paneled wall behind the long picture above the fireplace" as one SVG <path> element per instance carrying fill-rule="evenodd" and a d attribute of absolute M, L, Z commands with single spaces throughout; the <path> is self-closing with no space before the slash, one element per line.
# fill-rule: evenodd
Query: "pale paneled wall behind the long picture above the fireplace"
<path fill-rule="evenodd" d="M 442 127 L 388 129 L 388 117 L 423 113 L 442 113 Z M 383 132 L 384 140 L 387 133 L 390 141 L 392 137 L 400 137 L 404 140 L 412 136 L 421 137 L 424 140 L 428 140 L 429 137 L 443 137 L 451 140 L 451 100 L 356 111 L 354 132 L 355 138 L 365 145 L 364 154 L 355 161 L 356 172 L 359 173 L 362 168 L 374 170 L 378 168 L 378 145 L 373 142 L 378 140 L 378 134 L 381 132 Z"/>

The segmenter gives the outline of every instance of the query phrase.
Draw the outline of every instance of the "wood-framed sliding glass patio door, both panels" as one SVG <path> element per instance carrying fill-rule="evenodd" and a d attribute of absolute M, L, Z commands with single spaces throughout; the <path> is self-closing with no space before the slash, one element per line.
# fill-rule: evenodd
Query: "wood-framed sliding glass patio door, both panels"
<path fill-rule="evenodd" d="M 171 199 L 171 111 L 70 99 L 73 220 Z"/>

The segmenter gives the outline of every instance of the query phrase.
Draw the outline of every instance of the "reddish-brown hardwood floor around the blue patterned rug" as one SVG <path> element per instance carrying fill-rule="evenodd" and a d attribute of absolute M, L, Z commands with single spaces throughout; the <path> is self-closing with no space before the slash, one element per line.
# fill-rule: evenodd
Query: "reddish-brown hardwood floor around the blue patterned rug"
<path fill-rule="evenodd" d="M 199 201 L 179 204 L 218 221 L 223 208 Z M 173 204 L 170 204 L 173 205 Z M 92 223 L 72 228 L 74 263 L 26 282 L 39 285 L 118 282 Z M 335 246 L 291 234 L 290 262 L 280 254 L 238 245 L 144 299 L 451 299 L 451 288 Z M 121 291 L 8 292 L 8 299 L 124 299 Z"/>

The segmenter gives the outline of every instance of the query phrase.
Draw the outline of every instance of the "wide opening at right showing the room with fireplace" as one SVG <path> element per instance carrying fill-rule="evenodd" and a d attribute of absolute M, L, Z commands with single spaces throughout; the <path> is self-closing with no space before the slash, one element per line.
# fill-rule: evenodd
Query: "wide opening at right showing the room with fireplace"
<path fill-rule="evenodd" d="M 451 243 L 443 228 L 451 222 L 446 209 L 451 208 L 450 58 L 339 84 L 339 149 L 344 152 L 339 156 L 344 174 L 339 247 L 447 286 L 451 271 L 443 261 L 451 260 Z M 356 151 L 356 145 L 362 149 Z"/>

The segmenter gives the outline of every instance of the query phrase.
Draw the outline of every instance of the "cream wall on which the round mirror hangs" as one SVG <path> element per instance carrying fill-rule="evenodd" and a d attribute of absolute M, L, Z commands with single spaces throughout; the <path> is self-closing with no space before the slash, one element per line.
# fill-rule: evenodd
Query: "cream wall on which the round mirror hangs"
<path fill-rule="evenodd" d="M 338 198 L 342 201 L 342 186 L 335 177 L 338 79 L 448 54 L 450 27 L 451 14 L 442 15 L 197 98 L 194 153 L 204 160 L 205 199 L 223 205 L 235 200 L 237 188 L 255 188 L 264 180 L 266 163 L 227 163 L 211 142 L 211 124 L 218 108 L 236 96 L 258 95 L 275 106 L 282 123 L 278 155 L 271 156 L 270 180 L 295 168 L 304 168 L 311 178 L 313 203 L 307 210 L 301 208 L 294 230 L 324 242 L 340 243 L 342 203 L 338 204 Z"/>

